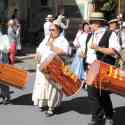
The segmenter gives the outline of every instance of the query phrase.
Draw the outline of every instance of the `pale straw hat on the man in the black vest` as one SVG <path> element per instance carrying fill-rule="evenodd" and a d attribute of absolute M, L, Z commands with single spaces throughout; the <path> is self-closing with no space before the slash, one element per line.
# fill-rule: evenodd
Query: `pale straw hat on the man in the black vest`
<path fill-rule="evenodd" d="M 90 14 L 89 19 L 90 21 L 106 21 L 106 19 L 104 18 L 104 14 L 102 12 L 92 12 Z"/>

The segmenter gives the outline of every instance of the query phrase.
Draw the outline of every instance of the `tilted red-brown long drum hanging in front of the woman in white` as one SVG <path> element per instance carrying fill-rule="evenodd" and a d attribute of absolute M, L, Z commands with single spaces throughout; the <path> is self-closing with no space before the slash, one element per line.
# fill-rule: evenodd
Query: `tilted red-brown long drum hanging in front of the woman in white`
<path fill-rule="evenodd" d="M 51 56 L 52 57 L 52 56 Z M 67 96 L 79 92 L 82 87 L 80 79 L 70 70 L 59 56 L 54 56 L 51 61 L 44 67 L 44 71 L 55 84 L 61 86 Z"/>

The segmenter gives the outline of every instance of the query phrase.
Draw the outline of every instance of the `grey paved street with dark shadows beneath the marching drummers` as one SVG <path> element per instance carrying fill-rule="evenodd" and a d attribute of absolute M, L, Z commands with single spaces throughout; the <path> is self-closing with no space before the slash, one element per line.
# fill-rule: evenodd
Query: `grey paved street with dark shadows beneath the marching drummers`
<path fill-rule="evenodd" d="M 64 97 L 61 111 L 46 118 L 32 106 L 31 93 L 35 78 L 35 62 L 32 55 L 17 58 L 17 67 L 29 72 L 29 82 L 24 90 L 11 88 L 11 102 L 0 105 L 0 125 L 87 125 L 90 111 L 86 91 L 74 97 Z M 116 125 L 125 125 L 125 97 L 112 94 Z"/>

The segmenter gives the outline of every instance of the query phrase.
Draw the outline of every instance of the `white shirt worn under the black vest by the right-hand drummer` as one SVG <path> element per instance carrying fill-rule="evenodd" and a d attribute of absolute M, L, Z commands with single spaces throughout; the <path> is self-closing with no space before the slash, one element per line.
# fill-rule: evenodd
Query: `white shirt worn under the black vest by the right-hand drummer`
<path fill-rule="evenodd" d="M 96 51 L 94 49 L 91 49 L 91 45 L 92 45 L 92 43 L 96 43 L 97 45 L 99 45 L 99 42 L 100 42 L 102 36 L 104 35 L 105 31 L 106 31 L 105 28 L 100 28 L 100 30 L 97 32 L 94 32 L 94 35 L 92 35 L 92 37 L 90 38 L 90 40 L 88 42 L 88 51 L 87 51 L 87 59 L 86 59 L 87 63 L 91 64 L 97 59 Z M 121 49 L 118 37 L 117 37 L 116 33 L 114 33 L 114 32 L 112 32 L 112 34 L 109 38 L 109 48 L 114 48 L 118 52 Z"/>

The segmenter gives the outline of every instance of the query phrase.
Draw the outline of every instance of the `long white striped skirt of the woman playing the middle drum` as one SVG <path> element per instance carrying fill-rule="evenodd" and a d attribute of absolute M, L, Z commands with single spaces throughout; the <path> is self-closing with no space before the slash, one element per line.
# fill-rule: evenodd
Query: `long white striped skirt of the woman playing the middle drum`
<path fill-rule="evenodd" d="M 32 94 L 34 105 L 54 108 L 60 104 L 61 99 L 62 91 L 51 84 L 51 82 L 45 77 L 44 73 L 40 72 L 39 64 L 37 64 L 36 78 Z"/>

